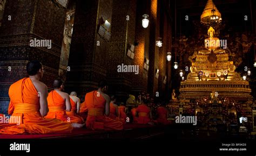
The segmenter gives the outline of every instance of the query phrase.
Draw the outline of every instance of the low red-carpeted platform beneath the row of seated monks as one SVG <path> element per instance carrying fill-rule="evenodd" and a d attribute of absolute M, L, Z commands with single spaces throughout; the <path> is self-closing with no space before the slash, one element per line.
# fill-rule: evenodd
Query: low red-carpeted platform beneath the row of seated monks
<path fill-rule="evenodd" d="M 89 129 L 74 129 L 67 134 L 0 134 L 0 139 L 53 139 L 53 138 L 151 138 L 163 135 L 163 125 L 126 124 L 120 131 L 93 131 Z"/>

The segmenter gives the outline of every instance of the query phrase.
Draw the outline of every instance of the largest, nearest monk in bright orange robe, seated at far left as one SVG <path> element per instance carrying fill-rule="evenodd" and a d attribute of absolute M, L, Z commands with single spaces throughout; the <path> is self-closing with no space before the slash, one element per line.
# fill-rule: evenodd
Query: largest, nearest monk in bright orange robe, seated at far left
<path fill-rule="evenodd" d="M 59 134 L 70 133 L 71 124 L 59 119 L 45 119 L 48 112 L 47 87 L 42 79 L 44 67 L 39 61 L 31 61 L 26 66 L 29 77 L 13 83 L 9 88 L 10 104 L 8 114 L 19 118 L 19 125 L 0 125 L 1 134 Z"/>

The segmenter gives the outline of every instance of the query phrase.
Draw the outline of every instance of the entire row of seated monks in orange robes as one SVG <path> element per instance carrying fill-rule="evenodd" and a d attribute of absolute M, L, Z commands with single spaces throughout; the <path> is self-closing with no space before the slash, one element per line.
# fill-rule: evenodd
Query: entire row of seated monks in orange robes
<path fill-rule="evenodd" d="M 122 130 L 123 125 L 130 122 L 126 116 L 127 108 L 124 105 L 118 107 L 115 97 L 105 94 L 105 80 L 99 82 L 98 90 L 87 93 L 80 104 L 75 91 L 70 95 L 63 92 L 60 79 L 53 81 L 54 90 L 48 93 L 48 88 L 40 81 L 44 73 L 41 62 L 30 61 L 26 70 L 29 77 L 9 88 L 8 114 L 11 117 L 8 124 L 0 123 L 0 134 L 70 133 L 74 127 L 83 126 L 92 130 Z M 131 110 L 133 123 L 169 124 L 166 109 L 159 107 L 157 112 L 158 118 L 153 120 L 150 108 L 140 104 Z"/>

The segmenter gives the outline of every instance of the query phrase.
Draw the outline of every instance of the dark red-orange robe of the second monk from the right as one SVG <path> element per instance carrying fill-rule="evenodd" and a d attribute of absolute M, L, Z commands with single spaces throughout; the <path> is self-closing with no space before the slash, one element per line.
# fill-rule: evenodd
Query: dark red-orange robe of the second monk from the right
<path fill-rule="evenodd" d="M 139 114 L 138 124 L 147 124 L 151 121 L 150 109 L 146 105 L 144 104 L 139 105 L 136 111 Z"/>

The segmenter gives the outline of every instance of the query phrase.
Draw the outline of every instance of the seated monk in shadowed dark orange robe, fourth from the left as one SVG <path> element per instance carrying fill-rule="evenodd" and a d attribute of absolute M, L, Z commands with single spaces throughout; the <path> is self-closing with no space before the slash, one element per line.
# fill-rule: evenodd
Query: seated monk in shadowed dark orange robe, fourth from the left
<path fill-rule="evenodd" d="M 98 90 L 85 95 L 85 104 L 88 108 L 86 127 L 96 130 L 122 130 L 123 123 L 107 116 L 110 114 L 110 97 L 105 94 L 107 82 L 100 81 Z"/>

